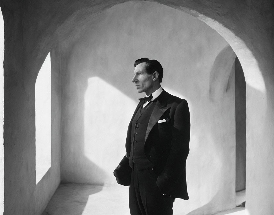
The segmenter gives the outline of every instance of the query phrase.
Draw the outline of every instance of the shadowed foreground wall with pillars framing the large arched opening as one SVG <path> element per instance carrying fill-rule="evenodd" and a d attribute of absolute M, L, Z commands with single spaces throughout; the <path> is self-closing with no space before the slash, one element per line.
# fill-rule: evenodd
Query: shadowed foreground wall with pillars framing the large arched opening
<path fill-rule="evenodd" d="M 121 2 L 125 1 L 0 1 L 5 23 L 4 214 L 36 214 L 39 207 L 34 200 L 34 89 L 46 55 L 60 41 L 80 38 L 79 29 L 89 20 Z M 246 213 L 272 214 L 273 1 L 157 2 L 202 20 L 222 35 L 238 56 L 246 79 Z M 47 186 L 44 191 L 51 193 Z M 50 197 L 43 196 L 45 203 Z"/>

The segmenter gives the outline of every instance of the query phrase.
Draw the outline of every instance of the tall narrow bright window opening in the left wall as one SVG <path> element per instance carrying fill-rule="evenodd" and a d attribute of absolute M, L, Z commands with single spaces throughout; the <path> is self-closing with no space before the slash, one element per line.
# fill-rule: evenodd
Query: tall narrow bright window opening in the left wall
<path fill-rule="evenodd" d="M 50 53 L 35 83 L 36 184 L 51 167 L 51 65 Z"/>

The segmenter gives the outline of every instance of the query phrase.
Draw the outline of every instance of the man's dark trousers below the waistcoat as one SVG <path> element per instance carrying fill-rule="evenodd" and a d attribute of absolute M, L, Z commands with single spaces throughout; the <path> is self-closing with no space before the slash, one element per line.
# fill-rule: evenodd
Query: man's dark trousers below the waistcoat
<path fill-rule="evenodd" d="M 131 215 L 172 215 L 174 198 L 163 195 L 156 180 L 158 173 L 153 168 L 137 170 L 132 166 L 129 187 L 129 209 Z"/>

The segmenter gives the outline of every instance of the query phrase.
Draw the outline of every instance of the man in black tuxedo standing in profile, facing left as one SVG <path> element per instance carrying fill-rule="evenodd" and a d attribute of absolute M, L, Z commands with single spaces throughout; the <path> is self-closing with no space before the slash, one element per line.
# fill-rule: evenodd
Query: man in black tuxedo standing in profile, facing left
<path fill-rule="evenodd" d="M 131 215 L 172 215 L 175 198 L 189 199 L 186 159 L 190 116 L 187 101 L 161 88 L 163 68 L 157 60 L 135 61 L 138 93 L 146 97 L 131 118 L 126 152 L 114 170 L 118 184 L 129 187 Z"/>

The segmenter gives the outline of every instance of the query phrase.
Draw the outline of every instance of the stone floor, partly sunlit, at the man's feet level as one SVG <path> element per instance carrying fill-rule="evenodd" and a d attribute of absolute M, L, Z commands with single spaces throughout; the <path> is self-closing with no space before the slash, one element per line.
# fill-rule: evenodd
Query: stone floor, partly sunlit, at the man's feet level
<path fill-rule="evenodd" d="M 239 201 L 243 200 L 241 192 Z M 237 198 L 236 198 L 237 199 Z M 176 210 L 174 215 L 182 215 Z M 128 187 L 61 184 L 42 215 L 129 215 Z M 217 215 L 244 215 L 244 207 L 217 213 Z"/>

